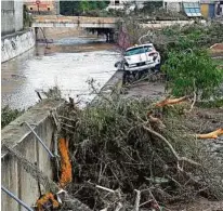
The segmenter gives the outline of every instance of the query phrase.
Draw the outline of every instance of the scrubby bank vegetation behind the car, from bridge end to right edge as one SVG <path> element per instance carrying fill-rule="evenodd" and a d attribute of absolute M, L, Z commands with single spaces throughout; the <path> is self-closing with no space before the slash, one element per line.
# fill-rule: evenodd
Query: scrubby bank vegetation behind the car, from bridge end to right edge
<path fill-rule="evenodd" d="M 129 45 L 153 42 L 166 61 L 170 51 L 186 49 L 209 49 L 214 43 L 223 42 L 223 24 L 219 22 L 201 24 L 173 25 L 159 29 L 143 27 L 135 16 L 123 16 L 118 23 L 123 28 Z"/>

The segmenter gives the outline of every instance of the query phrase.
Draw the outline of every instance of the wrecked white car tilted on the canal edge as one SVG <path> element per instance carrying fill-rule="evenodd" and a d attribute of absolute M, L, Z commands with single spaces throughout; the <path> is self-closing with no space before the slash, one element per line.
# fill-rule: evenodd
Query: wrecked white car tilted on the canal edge
<path fill-rule="evenodd" d="M 126 50 L 123 60 L 116 63 L 118 69 L 142 71 L 160 68 L 160 54 L 153 43 L 141 44 Z"/>

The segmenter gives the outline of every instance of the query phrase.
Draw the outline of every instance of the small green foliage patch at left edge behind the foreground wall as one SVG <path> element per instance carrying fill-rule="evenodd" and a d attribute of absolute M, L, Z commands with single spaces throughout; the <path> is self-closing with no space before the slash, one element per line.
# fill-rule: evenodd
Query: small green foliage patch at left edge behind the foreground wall
<path fill-rule="evenodd" d="M 1 109 L 1 128 L 8 126 L 11 121 L 19 117 L 24 110 L 11 109 L 9 106 L 5 106 Z"/>

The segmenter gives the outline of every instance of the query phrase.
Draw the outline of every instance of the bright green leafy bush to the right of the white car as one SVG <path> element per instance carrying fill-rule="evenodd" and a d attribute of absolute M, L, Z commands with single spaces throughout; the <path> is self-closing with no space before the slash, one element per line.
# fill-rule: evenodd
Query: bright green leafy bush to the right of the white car
<path fill-rule="evenodd" d="M 170 52 L 162 69 L 169 77 L 172 94 L 176 96 L 196 92 L 201 98 L 209 98 L 223 82 L 223 70 L 205 50 Z"/>

